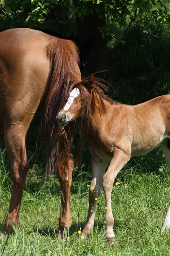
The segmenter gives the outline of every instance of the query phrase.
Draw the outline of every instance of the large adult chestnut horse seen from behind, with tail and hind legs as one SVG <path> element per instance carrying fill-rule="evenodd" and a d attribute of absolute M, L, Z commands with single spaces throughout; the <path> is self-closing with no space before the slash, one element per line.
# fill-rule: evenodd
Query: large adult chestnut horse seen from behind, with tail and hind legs
<path fill-rule="evenodd" d="M 0 134 L 4 134 L 11 159 L 13 181 L 2 236 L 10 231 L 12 224 L 18 223 L 29 169 L 26 134 L 32 119 L 40 112 L 43 112 L 42 125 L 51 148 L 49 161 L 54 160 L 55 151 L 59 153 L 57 167 L 62 194 L 60 237 L 64 227 L 71 226 L 70 188 L 74 165 L 71 126 L 67 133 L 61 135 L 61 128 L 55 124 L 56 114 L 68 99 L 69 87 L 81 80 L 78 64 L 78 50 L 72 41 L 32 29 L 0 32 Z M 60 145 L 57 144 L 59 141 Z"/>

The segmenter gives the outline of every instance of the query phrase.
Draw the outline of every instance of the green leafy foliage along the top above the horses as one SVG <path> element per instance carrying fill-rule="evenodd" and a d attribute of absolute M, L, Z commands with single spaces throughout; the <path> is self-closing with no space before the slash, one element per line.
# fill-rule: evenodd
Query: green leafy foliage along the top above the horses
<path fill-rule="evenodd" d="M 135 22 L 137 15 L 144 15 L 148 20 L 157 20 L 164 26 L 170 26 L 168 0 L 0 0 L 0 19 L 12 17 L 23 26 L 50 20 L 67 23 L 69 17 L 76 14 L 83 22 L 85 16 L 94 12 L 102 18 L 103 11 L 108 20 L 107 26 L 102 28 L 104 32 L 109 32 L 115 22 L 127 27 Z"/>

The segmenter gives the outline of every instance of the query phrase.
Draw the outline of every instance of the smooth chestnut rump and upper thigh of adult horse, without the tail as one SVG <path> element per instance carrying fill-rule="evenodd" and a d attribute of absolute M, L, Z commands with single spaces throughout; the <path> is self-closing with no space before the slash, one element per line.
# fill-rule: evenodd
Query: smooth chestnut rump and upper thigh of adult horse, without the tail
<path fill-rule="evenodd" d="M 53 38 L 33 29 L 0 32 L 0 111 L 37 110 L 48 77 L 46 46 Z M 34 108 L 32 108 L 34 106 Z M 17 111 L 14 113 L 14 110 Z"/>

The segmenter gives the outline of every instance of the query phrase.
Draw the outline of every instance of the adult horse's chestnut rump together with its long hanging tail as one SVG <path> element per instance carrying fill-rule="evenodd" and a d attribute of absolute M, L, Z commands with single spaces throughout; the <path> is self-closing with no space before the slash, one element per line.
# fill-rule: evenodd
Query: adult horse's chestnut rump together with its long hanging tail
<path fill-rule="evenodd" d="M 72 41 L 32 29 L 3 31 L 0 42 L 0 89 L 3 91 L 0 110 L 3 122 L 8 118 L 6 112 L 11 110 L 13 116 L 10 118 L 17 120 L 22 116 L 32 119 L 43 108 L 41 131 L 48 138 L 48 156 L 53 163 L 61 140 L 56 115 L 67 100 L 71 84 L 81 79 L 77 46 Z M 65 133 L 68 131 L 70 127 L 65 129 Z M 71 137 L 70 142 L 68 137 L 65 134 L 63 157 L 70 154 Z"/>

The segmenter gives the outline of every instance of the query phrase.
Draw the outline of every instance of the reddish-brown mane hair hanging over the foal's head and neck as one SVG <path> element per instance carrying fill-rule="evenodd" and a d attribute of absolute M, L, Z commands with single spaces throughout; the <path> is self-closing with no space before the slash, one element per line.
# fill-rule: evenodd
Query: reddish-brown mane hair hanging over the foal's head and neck
<path fill-rule="evenodd" d="M 94 74 L 96 74 L 96 73 L 94 73 Z M 106 111 L 105 101 L 109 102 L 111 105 L 120 104 L 116 101 L 113 101 L 111 98 L 109 98 L 103 92 L 103 90 L 105 92 L 108 91 L 108 86 L 103 84 L 104 82 L 107 83 L 105 80 L 95 77 L 95 86 L 90 87 L 89 79 L 91 78 L 91 76 L 94 77 L 94 74 L 88 76 L 85 79 L 82 79 L 82 81 L 79 81 L 79 82 L 73 84 L 73 86 L 71 87 L 71 90 L 73 90 L 74 88 L 78 88 L 82 95 L 82 98 L 84 100 L 83 107 L 81 110 L 82 121 L 81 121 L 80 131 L 79 131 L 80 138 L 79 138 L 79 147 L 78 147 L 78 155 L 77 155 L 77 164 L 81 163 L 82 145 L 83 145 L 83 139 L 84 139 L 84 133 L 85 133 L 85 125 L 88 128 L 91 111 L 93 111 L 93 109 L 96 107 L 96 105 L 99 106 L 99 111 L 101 111 L 101 108 L 103 111 Z M 88 92 L 92 95 L 91 102 L 90 102 L 88 93 L 84 88 L 86 88 L 88 90 Z"/>

